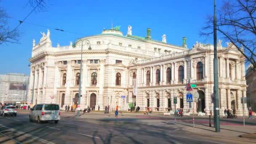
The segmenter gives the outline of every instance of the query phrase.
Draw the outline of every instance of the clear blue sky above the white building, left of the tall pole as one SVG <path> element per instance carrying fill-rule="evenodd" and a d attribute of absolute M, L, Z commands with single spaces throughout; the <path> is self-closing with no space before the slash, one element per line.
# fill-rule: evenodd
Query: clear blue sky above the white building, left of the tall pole
<path fill-rule="evenodd" d="M 33 9 L 27 6 L 28 0 L 2 0 L 2 7 L 8 15 L 9 26 L 16 27 Z M 152 39 L 162 40 L 166 34 L 168 43 L 182 44 L 182 37 L 187 37 L 188 48 L 196 41 L 213 43 L 213 38 L 200 37 L 199 32 L 207 15 L 213 14 L 213 0 L 48 0 L 46 12 L 33 12 L 25 22 L 49 27 L 53 46 L 69 45 L 77 37 L 100 34 L 103 27 L 109 29 L 111 20 L 114 26 L 120 26 L 124 35 L 128 25 L 132 26 L 133 35 L 146 36 L 146 29 L 151 28 Z M 139 1 L 139 2 L 138 2 Z M 221 3 L 221 0 L 217 0 Z M 47 27 L 23 23 L 21 44 L 7 43 L 0 45 L 0 74 L 29 74 L 29 61 L 32 40 L 36 43 L 47 32 Z M 56 31 L 52 28 L 77 32 L 82 35 Z M 224 44 L 223 44 L 224 45 Z"/>

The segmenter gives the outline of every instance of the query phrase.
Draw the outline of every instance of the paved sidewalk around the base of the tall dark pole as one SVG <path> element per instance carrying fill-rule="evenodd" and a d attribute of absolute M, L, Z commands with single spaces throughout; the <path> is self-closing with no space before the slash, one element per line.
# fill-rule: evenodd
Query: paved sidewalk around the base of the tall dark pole
<path fill-rule="evenodd" d="M 256 126 L 231 126 L 221 125 L 219 133 L 215 132 L 215 128 L 207 126 L 196 126 L 194 131 L 193 127 L 181 128 L 187 133 L 192 133 L 198 136 L 206 136 L 218 139 L 229 139 L 235 141 L 243 141 L 255 143 L 256 141 Z"/>

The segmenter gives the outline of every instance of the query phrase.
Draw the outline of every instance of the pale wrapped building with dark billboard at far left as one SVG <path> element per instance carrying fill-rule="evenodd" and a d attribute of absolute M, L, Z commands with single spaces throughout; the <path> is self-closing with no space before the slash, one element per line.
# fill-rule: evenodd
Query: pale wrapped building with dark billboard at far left
<path fill-rule="evenodd" d="M 0 75 L 0 102 L 16 104 L 27 102 L 29 76 L 24 74 Z"/>

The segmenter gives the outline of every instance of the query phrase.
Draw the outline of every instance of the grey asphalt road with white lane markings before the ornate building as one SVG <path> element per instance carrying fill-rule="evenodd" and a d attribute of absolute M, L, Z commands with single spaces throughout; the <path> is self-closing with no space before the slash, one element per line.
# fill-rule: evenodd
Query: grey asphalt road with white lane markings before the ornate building
<path fill-rule="evenodd" d="M 28 112 L 0 117 L 0 143 L 6 144 L 227 144 L 240 143 L 188 134 L 190 122 L 151 116 L 119 116 L 89 113 L 74 117 L 61 114 L 58 124 L 29 123 Z M 177 118 L 179 119 L 179 118 Z M 184 119 L 185 120 L 185 119 Z M 165 126 L 163 126 L 165 124 Z M 166 126 L 166 124 L 168 126 Z M 198 123 L 203 125 L 203 123 Z"/>

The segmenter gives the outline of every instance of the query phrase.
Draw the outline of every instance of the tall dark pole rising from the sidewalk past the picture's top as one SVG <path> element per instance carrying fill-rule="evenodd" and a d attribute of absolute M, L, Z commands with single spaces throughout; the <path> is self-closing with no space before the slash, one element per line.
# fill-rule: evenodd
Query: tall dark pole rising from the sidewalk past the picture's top
<path fill-rule="evenodd" d="M 214 74 L 214 115 L 215 116 L 215 132 L 220 132 L 219 125 L 219 80 L 218 80 L 218 59 L 217 59 L 217 32 L 216 32 L 216 0 L 214 0 L 214 16 L 213 16 L 213 40 L 214 40 L 214 59 L 213 59 L 213 74 Z"/>

